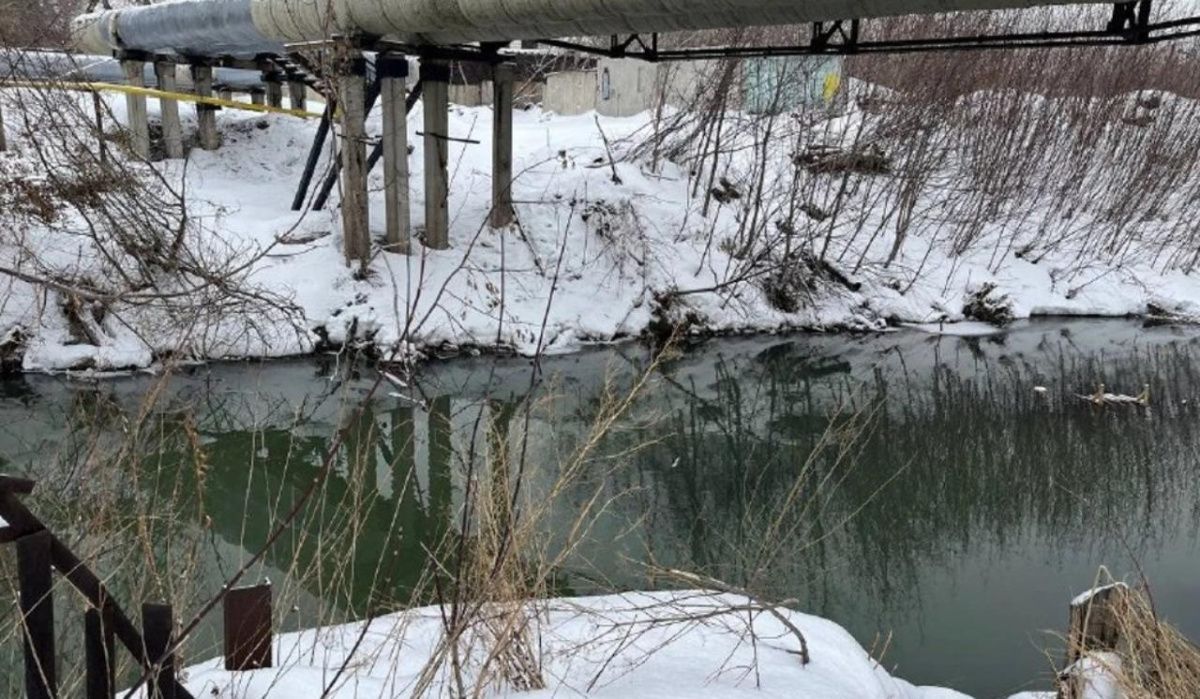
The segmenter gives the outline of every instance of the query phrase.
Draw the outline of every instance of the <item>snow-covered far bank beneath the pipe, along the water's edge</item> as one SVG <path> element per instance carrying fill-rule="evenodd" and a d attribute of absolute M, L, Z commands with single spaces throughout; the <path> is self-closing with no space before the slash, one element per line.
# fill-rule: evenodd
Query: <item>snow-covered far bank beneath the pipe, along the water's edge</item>
<path fill-rule="evenodd" d="M 12 100 L 16 91 L 4 95 Z M 124 102 L 109 100 L 108 106 L 121 121 Z M 46 114 L 23 113 L 12 104 L 6 113 L 12 153 L 0 154 L 0 183 L 24 183 L 28 189 L 28 183 L 47 177 L 29 136 Z M 851 108 L 814 129 L 836 141 L 853 133 L 863 118 Z M 379 132 L 379 120 L 377 110 L 370 119 L 372 133 Z M 164 354 L 282 357 L 346 342 L 367 342 L 385 354 L 396 347 L 533 354 L 636 336 L 661 327 L 660 321 L 700 334 L 960 321 L 980 289 L 1018 318 L 1141 315 L 1151 305 L 1183 315 L 1200 312 L 1200 277 L 1140 264 L 1128 250 L 1114 257 L 1055 244 L 1037 256 L 1022 255 L 1024 241 L 1038 232 L 1037 213 L 1026 213 L 1015 223 L 984 221 L 974 233 L 977 240 L 958 251 L 938 241 L 940 228 L 925 231 L 918 221 L 901 235 L 895 258 L 884 264 L 895 239 L 888 227 L 892 213 L 887 202 L 869 197 L 857 202 L 862 211 L 845 215 L 838 226 L 880 231 L 864 244 L 838 228 L 830 239 L 836 244 L 846 238 L 846 249 L 830 255 L 836 274 L 792 289 L 800 297 L 794 306 L 780 303 L 764 291 L 763 275 L 746 274 L 742 255 L 727 244 L 745 223 L 736 201 L 715 204 L 706 215 L 703 197 L 692 196 L 694 183 L 680 167 L 666 162 L 652 172 L 640 160 L 608 166 L 601 130 L 619 150 L 623 139 L 644 137 L 649 124 L 649 115 L 596 119 L 518 112 L 514 193 L 520 226 L 491 231 L 484 226 L 491 192 L 491 112 L 454 108 L 451 135 L 479 143 L 456 141 L 450 147 L 452 249 L 415 245 L 412 257 L 379 252 L 368 277 L 358 280 L 342 257 L 336 207 L 307 214 L 289 209 L 316 124 L 222 112 L 220 151 L 196 149 L 186 167 L 179 162 L 156 167 L 166 181 L 186 192 L 194 226 L 190 244 L 198 257 L 238 269 L 238 282 L 252 295 L 274 299 L 275 312 L 214 312 L 203 321 L 181 319 L 178 311 L 107 293 L 114 299 L 97 313 L 92 331 L 80 336 L 78 323 L 56 298 L 61 294 L 47 292 L 36 280 L 95 283 L 114 279 L 116 271 L 79 235 L 86 222 L 64 207 L 53 222 L 25 221 L 19 235 L 16 226 L 4 232 L 19 240 L 0 240 L 0 267 L 16 273 L 4 275 L 0 283 L 0 354 L 6 342 L 19 345 L 12 352 L 19 351 L 25 370 L 146 366 Z M 410 159 L 414 222 L 424 207 L 421 131 L 421 110 L 415 109 L 409 120 L 416 148 Z M 780 142 L 784 148 L 788 138 Z M 726 166 L 734 184 L 750 167 L 742 157 Z M 776 160 L 791 162 L 782 153 Z M 148 166 L 133 169 L 149 172 Z M 949 183 L 937 186 L 953 189 Z M 378 237 L 384 227 L 378 171 L 372 190 L 372 228 Z M 16 196 L 23 191 L 17 187 Z M 936 197 L 929 198 L 923 204 L 936 209 Z M 814 205 L 811 225 L 823 226 L 817 219 L 829 204 Z M 856 216 L 862 217 L 852 221 Z M 836 262 L 856 257 L 860 262 L 854 265 L 842 268 Z M 804 258 L 782 261 L 785 268 L 802 264 Z M 842 273 L 850 274 L 851 283 L 836 279 Z M 212 291 L 206 294 L 198 294 L 199 303 L 218 307 L 210 299 Z"/>

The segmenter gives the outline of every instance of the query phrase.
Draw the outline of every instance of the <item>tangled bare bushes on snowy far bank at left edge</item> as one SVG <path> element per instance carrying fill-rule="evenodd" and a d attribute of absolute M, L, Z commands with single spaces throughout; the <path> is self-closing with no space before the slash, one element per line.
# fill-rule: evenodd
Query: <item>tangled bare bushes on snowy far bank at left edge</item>
<path fill-rule="evenodd" d="M 152 356 L 236 353 L 305 331 L 289 299 L 248 282 L 270 250 L 227 240 L 197 215 L 186 163 L 128 157 L 106 102 L 54 83 L 0 100 L 14 135 L 0 157 L 0 303 L 25 309 L 6 343 L 31 334 L 22 324 L 53 328 L 59 316 L 65 345 Z"/>

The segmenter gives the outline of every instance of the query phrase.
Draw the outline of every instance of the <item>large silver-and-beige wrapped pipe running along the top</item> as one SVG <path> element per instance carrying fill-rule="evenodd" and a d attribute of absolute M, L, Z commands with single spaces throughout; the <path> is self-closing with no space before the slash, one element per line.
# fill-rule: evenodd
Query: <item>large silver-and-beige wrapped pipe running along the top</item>
<path fill-rule="evenodd" d="M 460 43 L 799 24 L 1097 0 L 175 0 L 76 20 L 94 53 L 275 53 L 335 35 Z"/>

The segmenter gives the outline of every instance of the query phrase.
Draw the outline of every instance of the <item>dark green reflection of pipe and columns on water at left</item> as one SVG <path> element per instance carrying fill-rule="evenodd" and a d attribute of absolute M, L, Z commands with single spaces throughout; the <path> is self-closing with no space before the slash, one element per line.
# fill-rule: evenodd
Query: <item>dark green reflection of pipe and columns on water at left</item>
<path fill-rule="evenodd" d="M 446 406 L 434 405 L 434 411 Z M 451 526 L 451 454 L 433 447 L 450 444 L 449 420 L 436 412 L 428 426 L 426 502 L 416 474 L 413 410 L 397 407 L 385 419 L 368 406 L 343 429 L 336 472 L 266 551 L 268 562 L 353 614 L 390 601 L 407 604 L 425 572 L 425 551 L 437 550 Z M 212 466 L 203 489 L 205 510 L 218 536 L 257 551 L 277 524 L 271 513 L 286 510 L 317 477 L 329 440 L 293 430 L 232 430 L 206 438 Z M 247 468 L 244 455 L 252 453 L 257 456 Z M 380 492 L 384 470 L 390 497 Z"/>

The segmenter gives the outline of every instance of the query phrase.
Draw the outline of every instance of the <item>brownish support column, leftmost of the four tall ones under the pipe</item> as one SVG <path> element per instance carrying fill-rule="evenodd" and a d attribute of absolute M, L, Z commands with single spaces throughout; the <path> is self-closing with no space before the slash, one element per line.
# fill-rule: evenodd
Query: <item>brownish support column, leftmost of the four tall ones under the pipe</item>
<path fill-rule="evenodd" d="M 337 98 L 342 123 L 342 238 L 346 264 L 371 258 L 371 215 L 367 203 L 367 65 L 350 52 L 337 66 Z"/>

